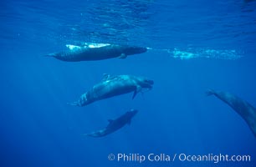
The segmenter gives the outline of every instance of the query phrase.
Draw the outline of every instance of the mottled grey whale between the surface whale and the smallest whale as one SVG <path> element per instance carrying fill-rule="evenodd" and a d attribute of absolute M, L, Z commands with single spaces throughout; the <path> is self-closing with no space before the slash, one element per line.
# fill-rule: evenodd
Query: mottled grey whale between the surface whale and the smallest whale
<path fill-rule="evenodd" d="M 134 92 L 132 99 L 142 89 L 152 89 L 153 80 L 136 77 L 133 75 L 108 75 L 100 83 L 95 84 L 93 88 L 82 94 L 78 101 L 70 103 L 71 105 L 84 106 L 101 99 L 108 99 L 120 94 Z"/>

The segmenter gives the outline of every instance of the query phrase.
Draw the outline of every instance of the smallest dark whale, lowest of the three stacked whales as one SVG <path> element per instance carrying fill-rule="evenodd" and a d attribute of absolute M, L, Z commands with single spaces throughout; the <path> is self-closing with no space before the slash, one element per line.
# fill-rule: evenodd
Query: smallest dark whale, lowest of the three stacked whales
<path fill-rule="evenodd" d="M 131 124 L 131 119 L 138 113 L 138 110 L 131 109 L 127 111 L 125 114 L 121 115 L 117 119 L 109 119 L 109 124 L 105 127 L 105 129 L 101 129 L 90 134 L 84 134 L 86 136 L 91 137 L 103 137 L 105 135 L 111 134 L 118 129 L 121 129 L 125 126 L 125 124 Z"/>

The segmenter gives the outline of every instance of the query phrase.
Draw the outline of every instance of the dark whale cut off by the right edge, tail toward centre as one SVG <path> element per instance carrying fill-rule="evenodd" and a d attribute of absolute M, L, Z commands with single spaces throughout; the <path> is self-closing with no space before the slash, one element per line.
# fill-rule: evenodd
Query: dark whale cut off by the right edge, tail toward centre
<path fill-rule="evenodd" d="M 254 136 L 256 137 L 256 109 L 251 104 L 228 92 L 213 90 L 207 91 L 207 95 L 212 94 L 218 97 L 218 99 L 223 100 L 223 102 L 234 109 L 245 120 L 249 128 L 252 130 Z"/>

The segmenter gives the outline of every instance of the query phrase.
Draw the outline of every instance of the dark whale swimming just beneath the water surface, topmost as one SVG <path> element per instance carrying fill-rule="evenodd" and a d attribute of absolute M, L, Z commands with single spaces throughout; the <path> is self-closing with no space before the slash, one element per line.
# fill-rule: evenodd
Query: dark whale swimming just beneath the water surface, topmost
<path fill-rule="evenodd" d="M 97 44 L 97 43 L 95 43 Z M 99 44 L 99 43 L 98 43 Z M 70 45 L 67 45 L 69 48 Z M 126 58 L 128 55 L 145 53 L 147 48 L 102 44 L 100 47 L 74 46 L 60 53 L 50 53 L 48 57 L 54 57 L 67 62 L 94 61 L 107 58 Z"/>

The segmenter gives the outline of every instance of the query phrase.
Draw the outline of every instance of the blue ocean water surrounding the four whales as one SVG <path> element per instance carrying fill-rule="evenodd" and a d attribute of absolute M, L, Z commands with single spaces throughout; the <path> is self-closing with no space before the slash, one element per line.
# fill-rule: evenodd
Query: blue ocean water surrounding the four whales
<path fill-rule="evenodd" d="M 248 124 L 207 89 L 256 106 L 256 2 L 159 0 L 3 0 L 0 3 L 0 166 L 255 166 Z M 144 46 L 125 59 L 45 58 L 65 44 Z M 84 107 L 67 105 L 103 73 L 154 80 L 151 91 Z M 131 125 L 102 129 L 129 109 Z M 250 162 L 145 162 L 109 154 L 250 155 Z"/>

